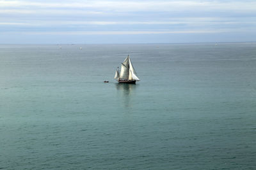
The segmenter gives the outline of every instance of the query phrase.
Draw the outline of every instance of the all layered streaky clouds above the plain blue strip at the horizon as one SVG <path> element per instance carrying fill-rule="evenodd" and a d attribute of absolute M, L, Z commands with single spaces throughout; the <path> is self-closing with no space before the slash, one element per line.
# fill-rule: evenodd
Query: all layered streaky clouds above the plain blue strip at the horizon
<path fill-rule="evenodd" d="M 250 0 L 0 0 L 0 15 L 1 34 L 256 32 L 256 1 Z"/>

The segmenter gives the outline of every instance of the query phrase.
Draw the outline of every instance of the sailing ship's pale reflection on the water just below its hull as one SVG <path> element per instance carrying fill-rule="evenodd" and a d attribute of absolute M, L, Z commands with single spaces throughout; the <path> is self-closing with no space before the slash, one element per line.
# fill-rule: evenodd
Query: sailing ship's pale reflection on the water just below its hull
<path fill-rule="evenodd" d="M 122 101 L 127 108 L 132 106 L 131 98 L 135 97 L 136 86 L 135 84 L 116 83 L 118 97 L 120 97 L 120 101 Z"/>

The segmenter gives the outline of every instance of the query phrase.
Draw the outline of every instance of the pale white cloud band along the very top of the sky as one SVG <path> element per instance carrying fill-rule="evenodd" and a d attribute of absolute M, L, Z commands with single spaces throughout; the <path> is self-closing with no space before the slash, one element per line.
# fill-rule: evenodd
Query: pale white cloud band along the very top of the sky
<path fill-rule="evenodd" d="M 95 9 L 99 11 L 253 11 L 255 1 L 0 1 L 1 8 Z"/>

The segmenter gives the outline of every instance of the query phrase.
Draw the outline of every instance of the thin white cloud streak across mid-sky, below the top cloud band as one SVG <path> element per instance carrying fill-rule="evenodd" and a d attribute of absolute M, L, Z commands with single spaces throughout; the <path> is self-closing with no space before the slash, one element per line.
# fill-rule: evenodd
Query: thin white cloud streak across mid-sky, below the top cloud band
<path fill-rule="evenodd" d="M 26 20 L 17 20 L 16 22 L 0 22 L 0 25 L 24 25 L 24 26 L 31 26 L 31 27 L 40 27 L 40 26 L 55 26 L 55 27 L 63 27 L 63 26 L 79 26 L 83 27 L 86 25 L 99 25 L 99 26 L 104 26 L 104 25 L 165 25 L 165 26 L 171 26 L 171 25 L 194 25 L 194 26 L 211 26 L 211 25 L 236 25 L 236 24 L 246 24 L 248 25 L 256 25 L 256 17 L 252 17 L 250 20 L 244 20 L 244 18 L 219 18 L 219 17 L 191 17 L 191 18 L 186 18 L 186 17 L 177 17 L 177 18 L 168 18 L 163 21 L 157 21 L 157 20 L 150 20 L 150 21 L 143 21 L 143 20 L 137 20 L 137 21 L 132 21 L 132 20 L 127 20 L 127 21 L 118 21 L 118 20 L 109 20 L 109 21 L 104 21 L 104 20 L 30 20 L 29 22 Z M 161 26 L 162 27 L 162 26 Z"/>

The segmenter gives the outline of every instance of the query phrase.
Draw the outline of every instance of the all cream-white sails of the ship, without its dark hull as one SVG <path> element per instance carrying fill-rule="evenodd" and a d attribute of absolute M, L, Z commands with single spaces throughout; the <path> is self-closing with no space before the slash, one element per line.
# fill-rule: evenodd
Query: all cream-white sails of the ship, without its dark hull
<path fill-rule="evenodd" d="M 120 78 L 122 80 L 140 81 L 140 78 L 138 78 L 136 71 L 135 71 L 134 67 L 132 66 L 132 62 L 131 62 L 129 55 L 128 55 L 128 57 L 126 57 L 124 62 L 122 62 L 122 64 L 121 64 L 120 75 L 119 75 L 118 71 L 116 71 L 115 79 L 118 79 L 118 78 Z"/>

